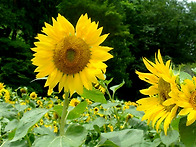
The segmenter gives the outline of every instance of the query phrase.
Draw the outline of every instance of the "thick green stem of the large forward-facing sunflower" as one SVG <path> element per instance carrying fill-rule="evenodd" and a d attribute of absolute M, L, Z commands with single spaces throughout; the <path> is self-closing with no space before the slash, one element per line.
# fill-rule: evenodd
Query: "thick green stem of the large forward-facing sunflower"
<path fill-rule="evenodd" d="M 69 106 L 69 92 L 65 92 L 65 100 L 63 103 L 63 111 L 61 114 L 61 121 L 60 121 L 60 135 L 64 135 L 64 128 L 65 128 L 65 122 L 66 122 L 66 116 L 67 116 L 67 109 Z"/>

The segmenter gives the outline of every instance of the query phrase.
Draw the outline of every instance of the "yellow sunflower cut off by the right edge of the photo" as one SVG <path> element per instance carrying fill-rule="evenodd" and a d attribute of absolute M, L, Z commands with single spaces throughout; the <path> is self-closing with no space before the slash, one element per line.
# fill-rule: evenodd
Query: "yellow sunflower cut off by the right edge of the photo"
<path fill-rule="evenodd" d="M 186 125 L 189 126 L 196 121 L 196 77 L 184 80 L 177 99 L 178 106 L 183 108 L 179 115 L 188 115 Z"/>

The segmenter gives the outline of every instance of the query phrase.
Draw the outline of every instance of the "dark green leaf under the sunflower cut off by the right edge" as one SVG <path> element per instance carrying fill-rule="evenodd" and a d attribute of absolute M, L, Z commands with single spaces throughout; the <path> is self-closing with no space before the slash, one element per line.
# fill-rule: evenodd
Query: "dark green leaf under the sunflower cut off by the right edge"
<path fill-rule="evenodd" d="M 186 117 L 180 119 L 179 123 L 179 133 L 181 141 L 187 147 L 195 147 L 196 146 L 196 122 L 194 122 L 190 126 L 186 126 Z"/>

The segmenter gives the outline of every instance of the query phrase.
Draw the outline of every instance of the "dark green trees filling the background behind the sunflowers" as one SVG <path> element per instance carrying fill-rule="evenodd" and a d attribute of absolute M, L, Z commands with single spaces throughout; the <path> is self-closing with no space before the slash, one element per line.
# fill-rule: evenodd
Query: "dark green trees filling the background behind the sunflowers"
<path fill-rule="evenodd" d="M 121 99 L 136 100 L 145 87 L 135 69 L 145 71 L 141 58 L 154 57 L 161 49 L 165 59 L 175 64 L 194 63 L 196 57 L 196 3 L 177 0 L 0 0 L 0 82 L 17 88 L 28 86 L 42 92 L 31 64 L 34 37 L 44 22 L 58 13 L 76 24 L 81 14 L 110 33 L 104 45 L 114 48 L 107 62 L 107 78 L 113 84 L 124 79 Z M 131 92 L 131 94 L 130 94 Z M 127 94 L 129 93 L 129 94 Z M 127 97 L 132 95 L 132 97 Z"/>

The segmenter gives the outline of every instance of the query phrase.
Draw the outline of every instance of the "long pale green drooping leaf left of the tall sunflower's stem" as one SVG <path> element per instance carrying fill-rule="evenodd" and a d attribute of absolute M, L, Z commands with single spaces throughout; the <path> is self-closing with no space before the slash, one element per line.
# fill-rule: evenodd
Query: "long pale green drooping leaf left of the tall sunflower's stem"
<path fill-rule="evenodd" d="M 31 128 L 34 124 L 36 124 L 43 115 L 48 112 L 47 109 L 32 109 L 31 111 L 27 111 L 24 116 L 20 119 L 18 123 L 18 127 L 16 128 L 16 133 L 12 141 L 16 141 L 24 137 L 29 128 Z"/>

